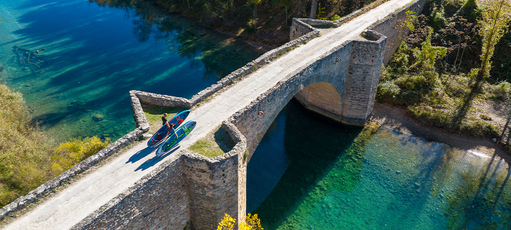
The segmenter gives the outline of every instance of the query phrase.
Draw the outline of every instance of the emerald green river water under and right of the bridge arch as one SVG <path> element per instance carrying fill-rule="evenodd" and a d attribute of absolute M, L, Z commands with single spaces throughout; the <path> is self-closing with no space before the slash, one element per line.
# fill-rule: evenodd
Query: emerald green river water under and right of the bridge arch
<path fill-rule="evenodd" d="M 269 230 L 511 229 L 509 175 L 498 156 L 338 125 L 291 101 L 248 164 L 247 212 Z"/>

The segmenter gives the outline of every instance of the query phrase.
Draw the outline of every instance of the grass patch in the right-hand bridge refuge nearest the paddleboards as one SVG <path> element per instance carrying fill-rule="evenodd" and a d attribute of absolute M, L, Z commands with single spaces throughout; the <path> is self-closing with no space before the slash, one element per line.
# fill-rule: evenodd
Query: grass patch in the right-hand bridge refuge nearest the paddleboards
<path fill-rule="evenodd" d="M 190 146 L 190 150 L 211 158 L 230 151 L 235 145 L 229 133 L 220 126 Z"/>

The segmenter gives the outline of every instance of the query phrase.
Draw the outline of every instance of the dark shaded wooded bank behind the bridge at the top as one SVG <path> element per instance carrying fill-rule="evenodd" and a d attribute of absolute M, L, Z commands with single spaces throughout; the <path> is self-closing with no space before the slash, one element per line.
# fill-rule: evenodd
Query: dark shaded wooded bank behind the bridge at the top
<path fill-rule="evenodd" d="M 198 20 L 206 27 L 217 28 L 245 40 L 281 45 L 289 40 L 289 26 L 293 17 L 307 18 L 310 15 L 317 15 L 321 19 L 335 20 L 373 1 L 155 0 L 155 2 L 170 12 L 182 13 L 184 17 Z"/>

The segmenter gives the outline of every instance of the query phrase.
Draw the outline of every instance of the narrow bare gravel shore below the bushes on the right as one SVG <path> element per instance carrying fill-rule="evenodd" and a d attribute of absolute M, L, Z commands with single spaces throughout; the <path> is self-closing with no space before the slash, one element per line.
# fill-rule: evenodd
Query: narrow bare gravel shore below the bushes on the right
<path fill-rule="evenodd" d="M 402 106 L 375 103 L 373 116 L 369 120 L 398 132 L 423 137 L 428 141 L 445 143 L 451 147 L 484 153 L 511 162 L 511 155 L 487 137 L 475 137 L 449 132 L 442 128 L 431 127 L 420 120 L 410 117 Z"/>

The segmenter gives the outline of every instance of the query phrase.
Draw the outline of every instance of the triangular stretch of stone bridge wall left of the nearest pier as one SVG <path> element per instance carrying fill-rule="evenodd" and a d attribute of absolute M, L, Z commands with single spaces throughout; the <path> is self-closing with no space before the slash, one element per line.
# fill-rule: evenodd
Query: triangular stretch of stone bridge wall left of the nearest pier
<path fill-rule="evenodd" d="M 167 160 L 72 229 L 183 229 L 190 223 L 183 159 Z"/>

